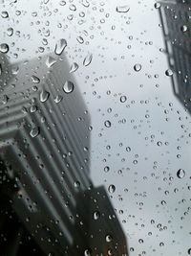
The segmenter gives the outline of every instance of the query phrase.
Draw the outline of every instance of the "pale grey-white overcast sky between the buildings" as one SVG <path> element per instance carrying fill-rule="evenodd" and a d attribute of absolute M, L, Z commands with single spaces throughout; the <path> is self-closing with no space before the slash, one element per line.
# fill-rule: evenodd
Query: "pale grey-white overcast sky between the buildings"
<path fill-rule="evenodd" d="M 0 40 L 10 45 L 12 63 L 52 53 L 56 41 L 65 38 L 68 60 L 79 65 L 74 76 L 93 127 L 92 179 L 106 188 L 116 186 L 112 202 L 129 247 L 134 248 L 130 256 L 144 255 L 144 251 L 148 256 L 187 255 L 191 247 L 191 211 L 187 210 L 191 118 L 165 75 L 168 62 L 159 51 L 164 42 L 155 1 L 93 0 L 89 7 L 75 0 L 64 6 L 57 0 L 11 2 L 1 0 L 1 11 L 8 11 L 10 17 L 1 18 Z M 116 12 L 117 6 L 124 5 L 129 12 Z M 8 36 L 10 27 L 13 35 Z M 83 37 L 82 44 L 77 36 Z M 83 59 L 89 53 L 93 60 L 85 67 Z M 139 72 L 134 70 L 137 63 Z M 120 102 L 121 95 L 127 97 L 125 103 Z M 106 120 L 111 128 L 104 126 Z M 108 173 L 105 166 L 110 167 Z M 182 179 L 177 177 L 179 169 L 185 171 Z"/>

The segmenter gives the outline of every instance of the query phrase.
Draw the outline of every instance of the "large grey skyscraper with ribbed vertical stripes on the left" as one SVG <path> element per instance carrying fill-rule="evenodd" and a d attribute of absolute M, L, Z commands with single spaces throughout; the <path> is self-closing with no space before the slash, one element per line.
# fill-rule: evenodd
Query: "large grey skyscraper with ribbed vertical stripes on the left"
<path fill-rule="evenodd" d="M 25 248 L 34 255 L 85 255 L 87 248 L 98 242 L 90 240 L 97 232 L 90 218 L 94 208 L 91 195 L 96 190 L 89 176 L 90 117 L 67 59 L 53 56 L 56 61 L 47 66 L 48 58 L 13 67 L 8 63 L 11 74 L 4 77 L 0 191 L 6 200 L 0 213 L 2 218 L 11 213 L 13 220 L 12 239 L 0 228 L 1 236 L 8 235 L 0 247 L 4 256 L 25 255 Z M 63 90 L 66 81 L 74 84 L 70 93 Z M 105 216 L 115 215 L 103 189 L 101 193 L 105 204 L 97 198 L 97 207 Z M 107 221 L 101 220 L 102 224 Z M 114 237 L 124 238 L 117 219 L 114 225 L 110 233 L 115 231 Z M 109 232 L 109 226 L 106 230 Z M 125 239 L 121 243 L 126 246 Z M 117 251 L 127 255 L 119 242 L 116 245 Z M 15 247 L 14 252 L 9 251 L 11 247 Z M 103 244 L 99 250 L 107 255 Z M 91 251 L 96 255 L 94 248 Z"/>

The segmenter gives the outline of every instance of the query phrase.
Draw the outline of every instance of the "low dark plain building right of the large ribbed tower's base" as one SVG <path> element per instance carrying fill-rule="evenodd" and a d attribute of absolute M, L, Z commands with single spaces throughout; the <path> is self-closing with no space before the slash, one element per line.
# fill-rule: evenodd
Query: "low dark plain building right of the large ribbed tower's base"
<path fill-rule="evenodd" d="M 104 187 L 89 193 L 89 244 L 93 255 L 127 256 L 126 237 Z"/>

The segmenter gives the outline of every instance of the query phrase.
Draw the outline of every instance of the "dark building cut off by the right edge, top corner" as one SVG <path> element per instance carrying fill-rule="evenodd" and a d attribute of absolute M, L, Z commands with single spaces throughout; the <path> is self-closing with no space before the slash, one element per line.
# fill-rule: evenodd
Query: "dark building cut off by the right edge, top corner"
<path fill-rule="evenodd" d="M 191 0 L 160 1 L 159 15 L 164 35 L 173 90 L 191 112 Z"/>

